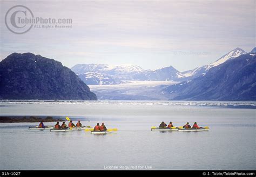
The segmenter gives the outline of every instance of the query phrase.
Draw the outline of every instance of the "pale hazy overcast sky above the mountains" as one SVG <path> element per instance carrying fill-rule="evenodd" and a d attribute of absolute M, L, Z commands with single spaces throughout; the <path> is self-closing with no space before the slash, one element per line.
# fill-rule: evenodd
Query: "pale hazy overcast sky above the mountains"
<path fill-rule="evenodd" d="M 255 47 L 255 1 L 0 1 L 0 60 L 32 52 L 63 65 L 172 65 L 179 71 Z M 71 18 L 72 28 L 32 28 L 17 35 L 6 12 L 28 7 L 35 17 Z"/>

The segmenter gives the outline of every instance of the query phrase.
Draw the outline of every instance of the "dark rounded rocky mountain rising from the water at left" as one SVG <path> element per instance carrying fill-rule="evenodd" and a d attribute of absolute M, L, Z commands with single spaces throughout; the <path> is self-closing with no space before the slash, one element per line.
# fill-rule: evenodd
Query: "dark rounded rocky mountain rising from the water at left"
<path fill-rule="evenodd" d="M 97 100 L 68 67 L 33 53 L 12 53 L 0 63 L 1 99 Z"/>

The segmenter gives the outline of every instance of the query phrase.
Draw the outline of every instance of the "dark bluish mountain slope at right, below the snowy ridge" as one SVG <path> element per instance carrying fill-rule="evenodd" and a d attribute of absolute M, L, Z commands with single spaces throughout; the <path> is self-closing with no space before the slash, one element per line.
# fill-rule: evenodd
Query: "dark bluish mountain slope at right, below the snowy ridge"
<path fill-rule="evenodd" d="M 170 100 L 256 100 L 256 56 L 227 60 L 204 76 L 165 88 L 163 94 Z"/>

